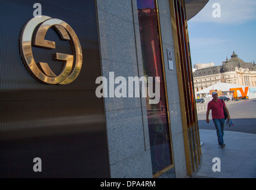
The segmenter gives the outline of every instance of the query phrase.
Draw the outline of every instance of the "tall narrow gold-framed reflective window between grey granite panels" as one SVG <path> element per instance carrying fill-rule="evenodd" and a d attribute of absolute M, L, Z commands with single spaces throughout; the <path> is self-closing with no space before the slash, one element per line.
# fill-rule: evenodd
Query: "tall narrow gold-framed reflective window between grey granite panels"
<path fill-rule="evenodd" d="M 162 63 L 161 36 L 159 36 L 156 1 L 137 0 L 141 50 L 144 75 L 160 77 L 160 102 L 150 105 L 147 101 L 147 121 L 153 175 L 173 164 L 171 150 L 168 103 L 165 95 L 165 78 Z"/>

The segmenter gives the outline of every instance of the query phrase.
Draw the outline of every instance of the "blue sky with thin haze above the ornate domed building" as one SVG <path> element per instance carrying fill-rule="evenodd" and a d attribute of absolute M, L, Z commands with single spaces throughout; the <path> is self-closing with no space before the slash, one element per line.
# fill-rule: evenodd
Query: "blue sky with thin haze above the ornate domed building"
<path fill-rule="evenodd" d="M 220 5 L 220 17 L 212 12 Z M 209 0 L 188 22 L 192 65 L 221 65 L 233 51 L 245 62 L 256 62 L 256 0 Z"/>

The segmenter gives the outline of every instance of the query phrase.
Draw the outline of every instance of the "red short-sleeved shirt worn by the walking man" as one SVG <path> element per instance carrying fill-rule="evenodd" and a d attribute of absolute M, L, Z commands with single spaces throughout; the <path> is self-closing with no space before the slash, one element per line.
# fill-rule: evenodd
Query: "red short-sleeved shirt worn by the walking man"
<path fill-rule="evenodd" d="M 223 119 L 225 118 L 224 116 L 224 111 L 223 107 L 226 106 L 225 102 L 221 101 L 221 99 L 218 99 L 217 102 L 215 102 L 213 99 L 208 103 L 207 109 L 212 110 L 212 119 Z"/>

